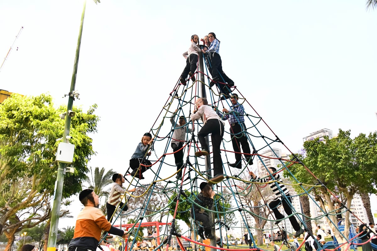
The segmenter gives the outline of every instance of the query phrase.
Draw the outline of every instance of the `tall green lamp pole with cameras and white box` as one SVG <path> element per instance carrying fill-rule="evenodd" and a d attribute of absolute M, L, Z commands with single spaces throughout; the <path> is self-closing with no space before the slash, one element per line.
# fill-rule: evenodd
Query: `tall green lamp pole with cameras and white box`
<path fill-rule="evenodd" d="M 66 114 L 63 113 L 60 115 L 61 119 L 65 119 L 65 124 L 64 124 L 63 138 L 62 138 L 63 142 L 59 143 L 58 151 L 57 151 L 58 173 L 57 173 L 57 178 L 55 182 L 55 190 L 54 190 L 54 198 L 53 198 L 54 201 L 53 201 L 52 211 L 51 211 L 51 225 L 50 225 L 50 232 L 49 232 L 49 238 L 48 238 L 48 244 L 47 244 L 47 251 L 56 250 L 61 197 L 63 193 L 64 174 L 66 173 L 66 171 L 74 172 L 74 168 L 72 168 L 72 166 L 66 168 L 66 164 L 73 162 L 73 154 L 74 154 L 74 148 L 75 148 L 75 146 L 73 144 L 70 144 L 68 141 L 70 138 L 69 129 L 70 129 L 70 124 L 71 124 L 71 118 L 75 116 L 75 112 L 72 111 L 73 101 L 75 100 L 75 98 L 78 98 L 79 96 L 78 91 L 75 91 L 75 84 L 76 84 L 76 75 L 77 75 L 77 67 L 78 67 L 78 57 L 80 55 L 81 36 L 83 34 L 85 8 L 86 8 L 86 0 L 84 0 L 83 12 L 81 14 L 80 30 L 78 33 L 75 62 L 74 62 L 74 68 L 73 68 L 73 73 L 72 73 L 70 90 L 68 94 L 64 95 L 64 96 L 68 96 L 67 112 Z"/>

